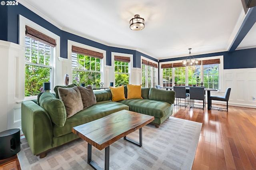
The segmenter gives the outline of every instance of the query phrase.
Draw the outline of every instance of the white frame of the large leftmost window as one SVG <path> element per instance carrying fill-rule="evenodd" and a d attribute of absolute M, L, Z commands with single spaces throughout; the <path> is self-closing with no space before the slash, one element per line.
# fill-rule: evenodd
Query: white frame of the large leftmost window
<path fill-rule="evenodd" d="M 31 28 L 34 28 L 35 30 L 46 34 L 47 36 L 50 36 L 51 38 L 55 39 L 56 41 L 56 47 L 53 48 L 52 51 L 52 73 L 51 73 L 51 92 L 53 91 L 54 87 L 55 87 L 55 83 L 56 83 L 56 58 L 60 56 L 60 36 L 57 36 L 56 34 L 54 34 L 53 32 L 50 32 L 49 30 L 47 30 L 46 28 L 32 22 L 31 20 L 25 18 L 22 15 L 19 15 L 19 44 L 22 45 L 23 47 L 25 47 L 25 36 L 26 36 L 26 26 L 29 26 Z M 25 57 L 25 53 L 24 53 L 24 57 Z M 25 63 L 24 63 L 25 65 Z M 24 75 L 23 75 L 24 77 Z M 24 77 L 24 84 L 25 84 L 25 77 Z M 24 86 L 25 87 L 25 86 Z M 23 95 L 25 95 L 25 89 L 24 89 L 24 93 Z M 30 96 L 30 97 L 24 97 L 24 99 L 34 99 L 37 96 Z"/>

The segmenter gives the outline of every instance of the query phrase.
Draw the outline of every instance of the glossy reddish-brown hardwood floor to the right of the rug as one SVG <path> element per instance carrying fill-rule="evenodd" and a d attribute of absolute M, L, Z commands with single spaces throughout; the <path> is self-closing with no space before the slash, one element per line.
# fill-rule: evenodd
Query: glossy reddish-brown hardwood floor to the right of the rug
<path fill-rule="evenodd" d="M 172 117 L 202 123 L 192 170 L 256 169 L 256 109 L 229 106 L 226 112 L 207 110 L 207 104 L 204 110 L 174 106 Z"/>

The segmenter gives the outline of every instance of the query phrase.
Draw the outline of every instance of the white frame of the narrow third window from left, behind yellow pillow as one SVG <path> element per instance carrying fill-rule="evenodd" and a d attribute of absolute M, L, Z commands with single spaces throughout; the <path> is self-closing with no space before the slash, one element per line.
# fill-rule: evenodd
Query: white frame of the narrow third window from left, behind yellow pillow
<path fill-rule="evenodd" d="M 132 65 L 133 65 L 133 55 L 132 54 L 127 54 L 127 53 L 117 53 L 117 52 L 112 52 L 111 53 L 111 65 L 113 67 L 113 76 L 114 76 L 114 87 L 116 87 L 116 80 L 115 80 L 115 74 L 118 74 L 115 72 L 115 55 L 117 56 L 122 56 L 122 57 L 130 57 L 130 62 L 128 63 L 128 75 L 129 75 L 129 84 L 131 83 L 131 72 L 132 72 Z"/>

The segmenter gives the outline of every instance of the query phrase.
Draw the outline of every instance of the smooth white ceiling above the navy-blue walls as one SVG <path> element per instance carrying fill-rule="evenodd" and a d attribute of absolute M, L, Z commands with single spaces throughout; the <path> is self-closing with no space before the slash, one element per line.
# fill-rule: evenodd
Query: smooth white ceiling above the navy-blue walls
<path fill-rule="evenodd" d="M 241 0 L 18 0 L 61 30 L 156 59 L 228 51 L 245 17 Z M 135 14 L 145 19 L 130 30 Z M 256 45 L 256 26 L 238 48 Z"/>

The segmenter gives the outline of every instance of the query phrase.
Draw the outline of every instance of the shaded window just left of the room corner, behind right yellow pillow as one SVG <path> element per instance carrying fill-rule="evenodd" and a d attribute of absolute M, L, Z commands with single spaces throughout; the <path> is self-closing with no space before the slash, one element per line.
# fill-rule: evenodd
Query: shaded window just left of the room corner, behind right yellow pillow
<path fill-rule="evenodd" d="M 156 87 L 157 64 L 142 59 L 142 87 Z"/>

